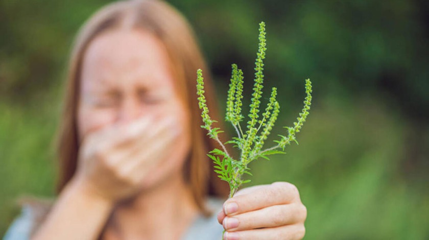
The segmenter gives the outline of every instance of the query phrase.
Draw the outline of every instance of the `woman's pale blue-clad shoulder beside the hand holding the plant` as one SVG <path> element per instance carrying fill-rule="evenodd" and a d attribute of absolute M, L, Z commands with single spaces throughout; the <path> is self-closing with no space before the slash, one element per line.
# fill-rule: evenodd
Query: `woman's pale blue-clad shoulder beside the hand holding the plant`
<path fill-rule="evenodd" d="M 212 212 L 208 217 L 200 214 L 187 230 L 183 240 L 220 240 L 222 239 L 223 227 L 218 223 L 218 212 L 222 210 L 224 200 L 219 198 L 209 198 L 206 201 L 208 209 Z"/>

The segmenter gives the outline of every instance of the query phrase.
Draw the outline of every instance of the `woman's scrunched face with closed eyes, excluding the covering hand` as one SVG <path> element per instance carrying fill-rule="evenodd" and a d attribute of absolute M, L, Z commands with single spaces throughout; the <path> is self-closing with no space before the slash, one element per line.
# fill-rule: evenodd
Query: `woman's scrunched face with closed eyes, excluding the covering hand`
<path fill-rule="evenodd" d="M 147 187 L 182 170 L 190 148 L 189 110 L 179 97 L 162 42 L 142 30 L 112 30 L 96 37 L 82 63 L 78 104 L 80 141 L 91 132 L 138 118 L 173 116 L 181 135 L 172 154 L 145 181 Z"/>

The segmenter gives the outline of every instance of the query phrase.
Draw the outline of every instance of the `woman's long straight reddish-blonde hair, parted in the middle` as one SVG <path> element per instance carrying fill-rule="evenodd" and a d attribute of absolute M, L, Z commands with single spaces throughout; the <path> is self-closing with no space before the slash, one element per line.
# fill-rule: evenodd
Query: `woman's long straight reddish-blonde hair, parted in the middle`
<path fill-rule="evenodd" d="M 64 108 L 58 131 L 59 177 L 58 193 L 75 175 L 80 142 L 77 133 L 77 103 L 81 82 L 82 60 L 91 40 L 101 33 L 124 27 L 142 29 L 153 33 L 170 55 L 177 76 L 178 89 L 183 101 L 190 110 L 192 147 L 190 157 L 185 163 L 185 177 L 192 189 L 195 203 L 202 212 L 208 195 L 227 196 L 227 185 L 221 183 L 210 170 L 210 161 L 206 157 L 208 150 L 216 146 L 206 136 L 202 125 L 196 94 L 196 71 L 205 70 L 205 94 L 207 104 L 214 119 L 221 120 L 217 114 L 216 99 L 208 69 L 195 40 L 192 29 L 186 19 L 173 7 L 157 0 L 134 0 L 115 2 L 102 8 L 81 28 L 68 67 L 65 88 Z M 191 97 L 189 97 L 191 96 Z"/>

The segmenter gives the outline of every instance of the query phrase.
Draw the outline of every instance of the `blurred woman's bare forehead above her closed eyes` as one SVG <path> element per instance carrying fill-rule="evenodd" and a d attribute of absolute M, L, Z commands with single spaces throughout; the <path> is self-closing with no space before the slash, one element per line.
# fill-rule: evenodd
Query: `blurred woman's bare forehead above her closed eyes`
<path fill-rule="evenodd" d="M 112 30 L 91 41 L 83 58 L 83 85 L 102 82 L 163 85 L 173 82 L 164 44 L 143 30 Z"/>

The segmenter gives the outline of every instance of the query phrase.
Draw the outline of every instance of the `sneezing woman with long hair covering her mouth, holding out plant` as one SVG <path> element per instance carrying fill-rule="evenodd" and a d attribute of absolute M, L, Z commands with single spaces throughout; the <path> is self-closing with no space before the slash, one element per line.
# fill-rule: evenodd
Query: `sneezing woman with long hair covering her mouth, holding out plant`
<path fill-rule="evenodd" d="M 40 204 L 27 207 L 6 239 L 220 239 L 223 228 L 225 239 L 301 239 L 306 209 L 290 183 L 219 200 L 226 189 L 205 156 L 216 143 L 200 128 L 197 68 L 206 65 L 192 30 L 166 3 L 94 14 L 70 59 L 58 198 L 41 218 Z"/>

